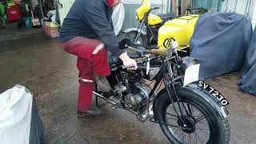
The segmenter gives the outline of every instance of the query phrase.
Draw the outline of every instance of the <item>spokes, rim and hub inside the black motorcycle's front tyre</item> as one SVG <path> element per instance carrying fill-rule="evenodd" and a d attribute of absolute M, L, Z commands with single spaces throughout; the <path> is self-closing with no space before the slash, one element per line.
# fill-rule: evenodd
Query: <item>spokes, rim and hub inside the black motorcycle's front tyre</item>
<path fill-rule="evenodd" d="M 182 102 L 182 112 L 184 115 L 178 117 L 174 110 L 178 103 L 170 104 L 166 110 L 166 122 L 177 123 L 174 126 L 168 126 L 170 134 L 182 143 L 206 143 L 210 138 L 210 118 L 203 114 L 202 110 L 192 102 Z M 186 113 L 187 111 L 187 113 Z M 179 112 L 180 113 L 180 112 Z"/>

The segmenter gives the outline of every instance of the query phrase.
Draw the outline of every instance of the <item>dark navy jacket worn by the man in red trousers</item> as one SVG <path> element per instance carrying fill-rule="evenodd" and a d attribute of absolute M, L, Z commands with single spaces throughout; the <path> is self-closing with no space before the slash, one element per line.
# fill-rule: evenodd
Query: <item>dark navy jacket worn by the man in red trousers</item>
<path fill-rule="evenodd" d="M 123 53 L 118 49 L 111 19 L 112 9 L 106 0 L 75 0 L 63 21 L 60 41 L 75 37 L 100 39 L 115 56 Z"/>

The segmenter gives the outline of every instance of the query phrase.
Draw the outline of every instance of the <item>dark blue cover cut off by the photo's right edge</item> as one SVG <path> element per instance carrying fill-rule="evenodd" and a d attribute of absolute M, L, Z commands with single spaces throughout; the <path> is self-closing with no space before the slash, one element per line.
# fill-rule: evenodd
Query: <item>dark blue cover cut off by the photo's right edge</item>
<path fill-rule="evenodd" d="M 250 38 L 250 46 L 246 52 L 246 62 L 238 86 L 244 92 L 256 95 L 256 29 Z"/>

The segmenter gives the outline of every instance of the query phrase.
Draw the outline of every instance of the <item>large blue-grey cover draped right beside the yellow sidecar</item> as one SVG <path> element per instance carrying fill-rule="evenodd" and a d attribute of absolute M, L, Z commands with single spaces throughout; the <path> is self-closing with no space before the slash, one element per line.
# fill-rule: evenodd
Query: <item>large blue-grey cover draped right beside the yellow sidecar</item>
<path fill-rule="evenodd" d="M 190 56 L 201 64 L 199 78 L 241 70 L 251 33 L 251 22 L 242 14 L 203 14 L 190 40 Z"/>

